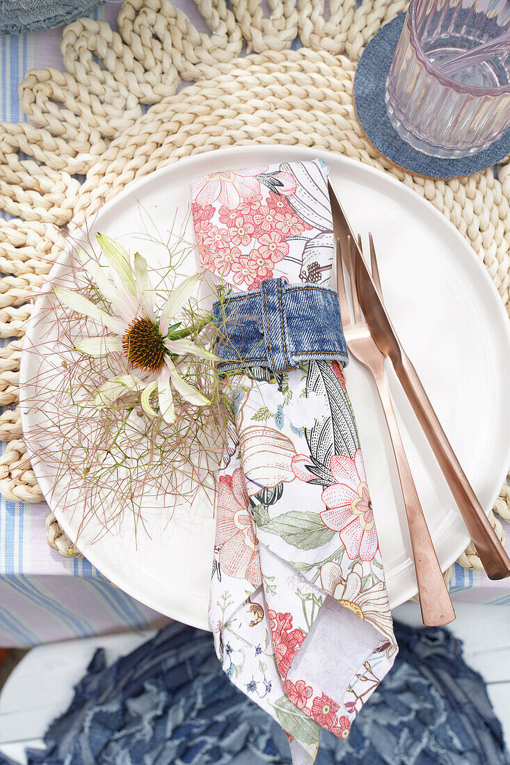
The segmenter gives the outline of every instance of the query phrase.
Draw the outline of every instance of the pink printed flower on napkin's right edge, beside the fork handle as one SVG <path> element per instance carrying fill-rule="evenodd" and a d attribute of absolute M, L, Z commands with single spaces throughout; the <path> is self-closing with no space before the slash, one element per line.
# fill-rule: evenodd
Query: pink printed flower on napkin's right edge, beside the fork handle
<path fill-rule="evenodd" d="M 322 492 L 326 506 L 320 514 L 322 521 L 329 529 L 338 531 L 351 560 L 371 561 L 378 551 L 378 535 L 361 449 L 356 451 L 354 460 L 334 454 L 331 472 L 336 483 Z"/>

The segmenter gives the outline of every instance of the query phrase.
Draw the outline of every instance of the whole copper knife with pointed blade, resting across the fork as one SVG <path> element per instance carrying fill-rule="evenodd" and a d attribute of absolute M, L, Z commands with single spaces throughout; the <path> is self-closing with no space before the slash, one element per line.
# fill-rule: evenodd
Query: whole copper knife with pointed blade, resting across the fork
<path fill-rule="evenodd" d="M 510 558 L 508 558 L 505 548 L 492 529 L 450 441 L 446 438 L 417 371 L 397 337 L 391 319 L 387 315 L 372 280 L 370 269 L 358 246 L 358 238 L 348 223 L 342 203 L 340 203 L 331 181 L 329 182 L 329 198 L 332 205 L 333 230 L 335 236 L 340 239 L 342 252 L 349 252 L 348 237 L 351 239 L 351 252 L 355 257 L 358 298 L 371 335 L 384 356 L 391 360 L 400 385 L 414 410 L 471 535 L 472 542 L 476 546 L 476 552 L 482 561 L 485 572 L 489 579 L 505 578 L 510 575 Z"/>

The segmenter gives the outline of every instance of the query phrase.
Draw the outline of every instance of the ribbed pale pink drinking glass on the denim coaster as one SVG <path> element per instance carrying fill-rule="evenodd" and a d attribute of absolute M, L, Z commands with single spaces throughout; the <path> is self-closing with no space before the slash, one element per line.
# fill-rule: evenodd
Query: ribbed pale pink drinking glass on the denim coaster
<path fill-rule="evenodd" d="M 510 0 L 412 0 L 386 83 L 401 138 L 436 157 L 487 148 L 510 125 L 510 47 L 446 77 L 441 63 L 510 30 Z"/>

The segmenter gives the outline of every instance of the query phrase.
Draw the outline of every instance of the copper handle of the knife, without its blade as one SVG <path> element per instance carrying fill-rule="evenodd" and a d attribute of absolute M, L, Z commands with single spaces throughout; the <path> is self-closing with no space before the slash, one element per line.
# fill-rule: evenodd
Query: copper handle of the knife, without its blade
<path fill-rule="evenodd" d="M 402 353 L 400 363 L 394 364 L 395 372 L 406 393 L 414 414 L 432 448 L 453 499 L 459 508 L 476 552 L 489 579 L 503 579 L 510 575 L 510 558 L 485 515 L 455 452 L 446 438 L 436 412 L 423 389 L 416 369 L 409 357 Z"/>

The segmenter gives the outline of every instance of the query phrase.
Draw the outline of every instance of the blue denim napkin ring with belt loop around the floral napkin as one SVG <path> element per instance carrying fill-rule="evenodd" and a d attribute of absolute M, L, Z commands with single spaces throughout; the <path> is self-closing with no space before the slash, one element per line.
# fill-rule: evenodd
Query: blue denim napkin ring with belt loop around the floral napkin
<path fill-rule="evenodd" d="M 285 372 L 309 360 L 348 363 L 335 290 L 266 279 L 258 290 L 215 302 L 213 314 L 219 372 L 248 365 Z"/>

